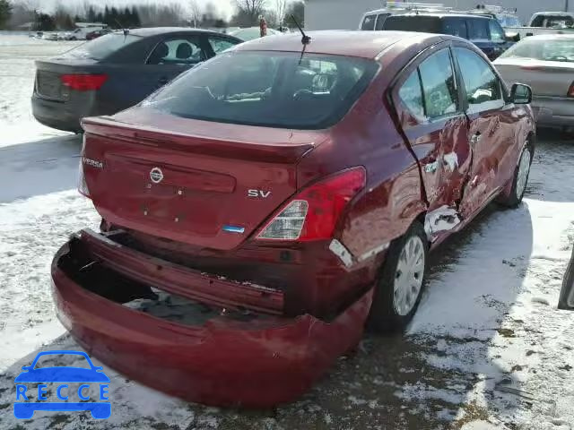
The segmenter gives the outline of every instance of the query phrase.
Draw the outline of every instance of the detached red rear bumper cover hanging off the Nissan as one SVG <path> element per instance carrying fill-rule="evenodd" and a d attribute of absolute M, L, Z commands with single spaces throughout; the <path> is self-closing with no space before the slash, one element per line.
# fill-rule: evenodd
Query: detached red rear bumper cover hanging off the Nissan
<path fill-rule="evenodd" d="M 235 288 L 249 287 L 225 280 L 210 291 L 214 280 L 90 230 L 75 235 L 52 262 L 58 318 L 93 357 L 140 383 L 215 406 L 266 408 L 296 400 L 361 340 L 372 299 L 370 290 L 326 323 L 309 314 L 274 314 L 281 292 L 256 286 L 238 293 Z M 174 322 L 130 305 L 160 297 L 149 286 L 204 300 L 189 300 L 187 321 Z M 231 305 L 223 312 L 214 305 L 218 290 L 219 305 L 250 297 L 247 308 L 261 311 Z"/>

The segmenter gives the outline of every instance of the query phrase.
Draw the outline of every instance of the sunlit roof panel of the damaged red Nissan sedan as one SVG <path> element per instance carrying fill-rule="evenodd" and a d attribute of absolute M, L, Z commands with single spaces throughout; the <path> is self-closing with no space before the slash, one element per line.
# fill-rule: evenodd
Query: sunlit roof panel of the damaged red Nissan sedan
<path fill-rule="evenodd" d="M 374 58 L 385 48 L 402 39 L 436 38 L 436 34 L 411 31 L 309 31 L 311 42 L 305 52 L 339 56 L 362 56 Z M 248 51 L 294 51 L 300 52 L 303 45 L 299 31 L 279 36 L 267 36 L 251 40 L 236 47 Z"/>

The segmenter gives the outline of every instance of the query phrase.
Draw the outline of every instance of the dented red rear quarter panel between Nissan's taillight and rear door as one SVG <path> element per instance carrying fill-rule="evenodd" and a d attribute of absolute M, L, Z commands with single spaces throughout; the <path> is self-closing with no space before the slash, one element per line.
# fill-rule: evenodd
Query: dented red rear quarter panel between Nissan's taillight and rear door
<path fill-rule="evenodd" d="M 420 37 L 413 33 L 416 38 Z M 419 166 L 397 130 L 387 90 L 413 56 L 440 40 L 427 36 L 417 43 L 406 39 L 388 49 L 379 60 L 377 77 L 331 130 L 330 139 L 300 162 L 300 185 L 344 168 L 366 168 L 367 186 L 353 200 L 337 230 L 337 237 L 360 261 L 402 236 L 426 209 Z"/>

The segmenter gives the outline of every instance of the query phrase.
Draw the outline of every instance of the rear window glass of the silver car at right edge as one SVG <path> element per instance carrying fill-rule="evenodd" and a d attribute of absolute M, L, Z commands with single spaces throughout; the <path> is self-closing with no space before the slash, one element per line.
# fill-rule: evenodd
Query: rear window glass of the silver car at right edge
<path fill-rule="evenodd" d="M 574 62 L 574 39 L 526 39 L 510 47 L 500 58 Z"/>

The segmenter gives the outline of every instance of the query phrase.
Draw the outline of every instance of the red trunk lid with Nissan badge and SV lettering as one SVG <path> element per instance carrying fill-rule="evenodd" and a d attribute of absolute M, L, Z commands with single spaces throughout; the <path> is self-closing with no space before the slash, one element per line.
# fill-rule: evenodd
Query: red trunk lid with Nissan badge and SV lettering
<path fill-rule="evenodd" d="M 240 245 L 297 190 L 320 132 L 225 125 L 138 108 L 86 118 L 83 172 L 109 222 L 200 247 Z"/>

